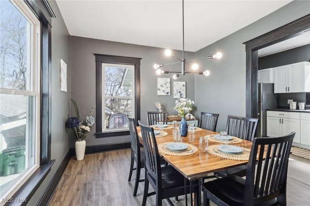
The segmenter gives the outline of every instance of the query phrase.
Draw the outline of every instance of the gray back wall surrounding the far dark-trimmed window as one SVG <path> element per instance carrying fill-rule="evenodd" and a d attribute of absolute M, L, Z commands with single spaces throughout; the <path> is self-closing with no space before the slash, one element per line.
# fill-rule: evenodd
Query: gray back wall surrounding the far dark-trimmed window
<path fill-rule="evenodd" d="M 137 38 L 139 34 L 137 34 Z M 180 42 L 180 44 L 182 44 Z M 95 88 L 95 56 L 93 54 L 116 55 L 123 57 L 142 58 L 140 66 L 140 90 L 141 90 L 141 121 L 147 122 L 147 111 L 158 111 L 154 103 L 159 101 L 163 103 L 163 111 L 168 111 L 168 114 L 176 115 L 172 111 L 175 104 L 173 95 L 157 96 L 157 75 L 153 69 L 155 63 L 170 63 L 176 62 L 175 59 L 166 57 L 165 49 L 149 46 L 141 46 L 135 44 L 124 44 L 117 42 L 109 42 L 103 40 L 89 39 L 83 37 L 71 36 L 71 97 L 79 107 L 80 117 L 86 117 L 93 103 L 95 103 L 96 88 Z M 172 52 L 176 57 L 182 58 L 181 51 Z M 193 59 L 194 53 L 186 52 L 186 59 Z M 170 65 L 164 67 L 164 70 L 181 71 L 181 65 Z M 171 78 L 171 93 L 173 89 L 173 74 L 162 74 L 160 77 Z M 186 81 L 186 97 L 194 100 L 194 75 L 186 74 L 177 79 L 177 81 Z M 74 111 L 71 111 L 74 115 Z M 194 112 L 192 112 L 194 114 Z M 102 145 L 113 144 L 120 142 L 129 142 L 129 136 L 104 137 L 95 138 L 93 135 L 95 127 L 89 133 L 86 139 L 86 145 Z M 71 147 L 74 140 L 71 141 Z"/>

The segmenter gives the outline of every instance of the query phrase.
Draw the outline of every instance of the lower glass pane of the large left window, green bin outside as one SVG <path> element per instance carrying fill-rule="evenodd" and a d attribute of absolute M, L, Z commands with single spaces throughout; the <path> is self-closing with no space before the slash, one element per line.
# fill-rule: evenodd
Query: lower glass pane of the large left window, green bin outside
<path fill-rule="evenodd" d="M 36 97 L 0 94 L 0 192 L 35 163 Z"/>

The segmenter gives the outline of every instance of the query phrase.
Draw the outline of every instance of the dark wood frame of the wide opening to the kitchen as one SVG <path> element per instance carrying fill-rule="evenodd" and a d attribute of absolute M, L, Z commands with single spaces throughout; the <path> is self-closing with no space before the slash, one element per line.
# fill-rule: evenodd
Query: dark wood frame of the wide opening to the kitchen
<path fill-rule="evenodd" d="M 246 45 L 246 116 L 258 117 L 258 50 L 310 29 L 310 15 L 299 18 L 243 44 Z"/>

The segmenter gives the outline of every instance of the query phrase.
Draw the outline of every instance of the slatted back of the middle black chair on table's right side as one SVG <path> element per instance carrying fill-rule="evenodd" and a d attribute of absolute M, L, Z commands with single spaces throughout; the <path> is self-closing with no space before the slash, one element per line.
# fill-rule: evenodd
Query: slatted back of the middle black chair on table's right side
<path fill-rule="evenodd" d="M 228 135 L 252 141 L 259 119 L 228 115 L 226 132 Z"/>

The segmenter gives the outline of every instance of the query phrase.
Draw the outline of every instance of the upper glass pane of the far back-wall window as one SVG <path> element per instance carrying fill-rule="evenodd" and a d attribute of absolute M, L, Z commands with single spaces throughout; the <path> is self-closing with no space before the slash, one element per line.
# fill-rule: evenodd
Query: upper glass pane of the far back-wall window
<path fill-rule="evenodd" d="M 132 68 L 105 66 L 105 96 L 131 96 Z"/>

